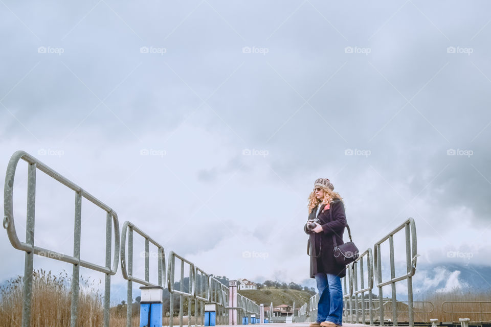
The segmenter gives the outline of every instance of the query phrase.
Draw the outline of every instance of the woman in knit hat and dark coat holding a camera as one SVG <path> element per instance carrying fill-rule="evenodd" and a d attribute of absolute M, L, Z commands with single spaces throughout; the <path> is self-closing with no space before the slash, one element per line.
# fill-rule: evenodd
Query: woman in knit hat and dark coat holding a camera
<path fill-rule="evenodd" d="M 344 244 L 343 232 L 347 223 L 343 199 L 333 190 L 329 179 L 318 178 L 314 191 L 308 197 L 309 216 L 303 229 L 309 234 L 311 245 L 310 278 L 316 279 L 319 291 L 317 319 L 310 323 L 310 327 L 343 325 L 341 278 L 346 275 L 346 267 L 334 260 L 332 236 L 336 237 L 338 245 Z M 310 223 L 314 223 L 315 227 L 307 227 Z"/>

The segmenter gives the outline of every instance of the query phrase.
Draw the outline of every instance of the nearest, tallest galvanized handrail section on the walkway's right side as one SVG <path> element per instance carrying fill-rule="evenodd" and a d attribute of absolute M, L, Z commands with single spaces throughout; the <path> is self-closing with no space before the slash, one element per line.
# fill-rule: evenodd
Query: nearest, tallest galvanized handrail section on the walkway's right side
<path fill-rule="evenodd" d="M 394 263 L 394 235 L 401 229 L 405 229 L 406 232 L 406 266 L 407 273 L 399 277 L 395 276 L 395 263 Z M 390 280 L 387 282 L 382 281 L 382 259 L 381 259 L 381 244 L 389 240 L 389 255 L 390 255 Z M 406 219 L 402 224 L 397 226 L 380 241 L 376 242 L 373 246 L 374 253 L 374 270 L 377 277 L 378 297 L 383 298 L 382 287 L 385 285 L 392 286 L 392 319 L 393 325 L 397 326 L 397 306 L 396 306 L 396 288 L 395 283 L 407 279 L 408 281 L 408 308 L 409 308 L 409 325 L 414 326 L 413 315 L 413 283 L 412 276 L 416 272 L 416 258 L 417 243 L 416 243 L 416 224 L 413 218 Z M 380 323 L 384 325 L 384 306 L 380 306 Z"/>

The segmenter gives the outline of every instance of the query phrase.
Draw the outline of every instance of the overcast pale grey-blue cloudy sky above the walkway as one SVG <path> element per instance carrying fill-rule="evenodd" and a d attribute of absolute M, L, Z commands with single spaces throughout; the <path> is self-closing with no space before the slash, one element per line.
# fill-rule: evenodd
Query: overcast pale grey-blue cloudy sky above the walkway
<path fill-rule="evenodd" d="M 0 172 L 24 150 L 230 279 L 315 286 L 302 227 L 319 177 L 361 250 L 412 217 L 418 263 L 491 262 L 488 2 L 0 2 Z M 21 240 L 26 177 L 21 161 Z M 82 206 L 81 258 L 103 264 L 105 213 Z M 73 212 L 38 172 L 36 245 L 72 254 Z M 0 279 L 22 274 L 5 230 L 0 246 Z"/>

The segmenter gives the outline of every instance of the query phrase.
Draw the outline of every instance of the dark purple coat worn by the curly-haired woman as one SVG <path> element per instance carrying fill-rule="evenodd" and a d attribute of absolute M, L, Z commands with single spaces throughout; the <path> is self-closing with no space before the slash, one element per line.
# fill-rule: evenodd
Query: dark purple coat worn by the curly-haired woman
<path fill-rule="evenodd" d="M 317 207 L 314 207 L 308 216 L 308 219 L 316 218 Z M 346 267 L 336 263 L 334 259 L 332 244 L 332 235 L 336 236 L 336 243 L 338 246 L 344 244 L 343 233 L 346 227 L 346 213 L 344 211 L 344 204 L 340 199 L 334 199 L 329 205 L 329 209 L 322 212 L 324 208 L 321 208 L 319 212 L 320 224 L 323 231 L 316 233 L 312 230 L 307 230 L 307 223 L 303 226 L 303 230 L 309 234 L 309 241 L 315 242 L 315 249 L 310 249 L 310 255 L 318 255 L 319 258 L 310 256 L 310 278 L 315 278 L 315 274 L 319 272 L 330 273 L 338 275 L 339 277 L 346 276 Z M 329 216 L 329 212 L 332 211 L 332 221 Z M 321 242 L 322 239 L 322 242 Z"/>

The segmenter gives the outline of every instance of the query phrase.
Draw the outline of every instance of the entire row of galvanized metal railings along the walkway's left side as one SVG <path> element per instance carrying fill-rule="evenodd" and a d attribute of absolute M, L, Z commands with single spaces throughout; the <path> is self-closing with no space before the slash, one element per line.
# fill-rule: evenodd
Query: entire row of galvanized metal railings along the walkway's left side
<path fill-rule="evenodd" d="M 13 185 L 14 176 L 17 168 L 18 161 L 23 159 L 28 163 L 28 188 L 27 188 L 27 218 L 26 218 L 26 242 L 19 241 L 14 224 L 13 213 Z M 59 253 L 50 249 L 45 249 L 34 244 L 34 222 L 35 222 L 35 190 L 36 190 L 36 170 L 40 170 L 46 173 L 48 176 L 59 181 L 63 185 L 75 192 L 75 218 L 74 218 L 74 246 L 73 255 Z M 82 197 L 88 201 L 96 204 L 106 212 L 106 238 L 105 238 L 105 266 L 100 266 L 85 260 L 80 259 L 80 243 L 81 243 L 81 207 Z M 167 289 L 170 296 L 170 313 L 169 313 L 169 326 L 173 325 L 173 296 L 179 295 L 180 310 L 179 321 L 180 325 L 183 325 L 183 308 L 184 297 L 188 299 L 188 316 L 191 319 L 191 304 L 194 299 L 195 303 L 195 324 L 197 324 L 197 304 L 200 303 L 200 311 L 202 313 L 201 320 L 204 324 L 204 306 L 203 302 L 213 302 L 217 305 L 217 324 L 228 324 L 229 310 L 238 310 L 242 315 L 255 313 L 259 316 L 260 306 L 253 300 L 237 294 L 238 303 L 237 307 L 230 308 L 228 306 L 229 288 L 222 284 L 217 278 L 207 274 L 203 270 L 195 267 L 194 263 L 184 259 L 182 256 L 177 255 L 173 251 L 169 252 L 170 260 L 167 263 L 167 276 L 166 260 L 164 248 L 154 239 L 150 238 L 147 233 L 136 227 L 133 223 L 125 221 L 123 228 L 119 229 L 118 215 L 108 205 L 98 200 L 90 193 L 86 192 L 80 186 L 76 185 L 69 179 L 63 177 L 53 169 L 44 165 L 41 161 L 34 158 L 24 151 L 15 152 L 10 158 L 7 166 L 7 173 L 5 178 L 5 192 L 4 192 L 4 220 L 3 226 L 7 230 L 7 236 L 10 243 L 15 249 L 25 252 L 25 265 L 24 265 L 24 283 L 23 283 L 23 311 L 21 317 L 22 327 L 29 327 L 31 320 L 31 299 L 32 299 L 32 284 L 33 284 L 33 256 L 34 254 L 40 256 L 46 256 L 48 258 L 56 259 L 73 265 L 72 271 L 72 285 L 71 285 L 71 313 L 70 324 L 72 327 L 76 325 L 77 313 L 78 313 L 78 299 L 79 299 L 79 278 L 80 267 L 85 267 L 94 271 L 103 272 L 106 274 L 104 282 L 104 302 L 103 302 L 103 321 L 104 327 L 109 326 L 109 304 L 110 304 L 110 276 L 116 274 L 119 262 L 121 261 L 121 272 L 123 277 L 127 281 L 127 310 L 126 310 L 126 325 L 131 326 L 132 317 L 132 283 L 138 283 L 145 286 L 162 286 L 163 281 L 167 279 Z M 113 248 L 113 231 L 114 231 L 114 258 L 111 266 L 111 248 Z M 133 232 L 138 233 L 145 239 L 145 276 L 137 277 L 133 276 Z M 126 236 L 128 242 L 126 243 Z M 121 244 L 120 244 L 121 237 Z M 150 271 L 149 271 L 149 258 L 150 243 L 157 247 L 158 258 L 158 278 L 157 285 L 150 283 Z M 127 245 L 127 247 L 126 247 Z M 121 255 L 121 256 L 120 256 Z M 181 281 L 179 289 L 174 289 L 174 273 L 175 273 L 175 258 L 181 260 Z M 120 260 L 121 259 L 121 260 Z M 184 264 L 189 265 L 189 288 L 188 292 L 183 289 L 184 283 Z M 199 277 L 198 277 L 199 276 Z M 166 278 L 167 277 L 167 278 Z M 197 279 L 199 278 L 199 288 L 196 288 Z M 271 313 L 270 313 L 271 314 Z M 190 323 L 188 323 L 190 324 Z"/>

